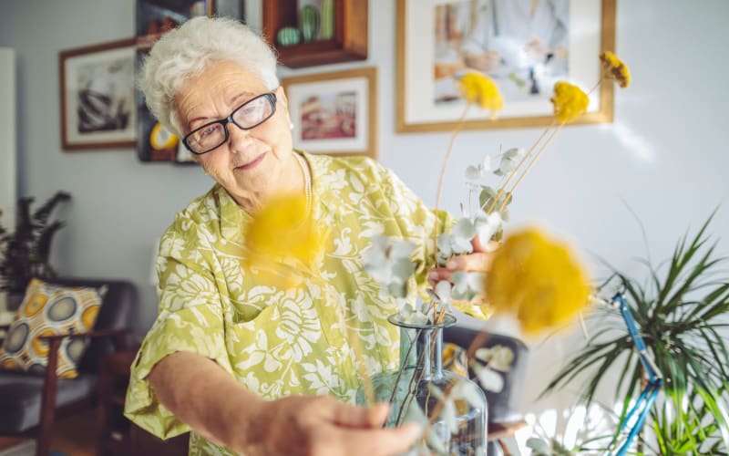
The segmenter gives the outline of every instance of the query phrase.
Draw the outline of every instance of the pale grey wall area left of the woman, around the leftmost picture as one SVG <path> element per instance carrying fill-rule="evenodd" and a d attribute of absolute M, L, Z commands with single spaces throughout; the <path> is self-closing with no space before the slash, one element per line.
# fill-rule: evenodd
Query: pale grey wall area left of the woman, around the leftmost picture
<path fill-rule="evenodd" d="M 156 314 L 149 266 L 156 237 L 175 212 L 205 192 L 197 167 L 143 164 L 133 150 L 60 147 L 58 51 L 133 35 L 134 1 L 0 0 L 0 46 L 14 47 L 18 81 L 18 192 L 45 201 L 72 194 L 57 212 L 51 262 L 62 275 L 132 280 L 142 296 L 138 332 Z"/>

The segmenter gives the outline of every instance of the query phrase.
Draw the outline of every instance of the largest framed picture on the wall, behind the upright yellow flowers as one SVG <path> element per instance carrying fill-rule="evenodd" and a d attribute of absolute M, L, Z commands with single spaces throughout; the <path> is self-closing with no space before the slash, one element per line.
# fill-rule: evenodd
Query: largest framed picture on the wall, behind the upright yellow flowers
<path fill-rule="evenodd" d="M 471 109 L 467 130 L 552 121 L 555 82 L 585 91 L 601 78 L 599 54 L 615 41 L 615 0 L 396 0 L 398 132 L 453 130 L 465 101 L 457 78 L 479 71 L 504 98 L 498 119 Z M 612 120 L 613 84 L 590 92 L 575 123 Z"/>

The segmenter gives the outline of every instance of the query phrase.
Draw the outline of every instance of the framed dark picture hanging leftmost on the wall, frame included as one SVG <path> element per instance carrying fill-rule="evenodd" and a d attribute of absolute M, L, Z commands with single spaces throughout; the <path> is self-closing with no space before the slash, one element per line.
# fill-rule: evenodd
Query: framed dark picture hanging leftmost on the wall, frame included
<path fill-rule="evenodd" d="M 135 39 L 58 54 L 65 150 L 133 148 Z"/>

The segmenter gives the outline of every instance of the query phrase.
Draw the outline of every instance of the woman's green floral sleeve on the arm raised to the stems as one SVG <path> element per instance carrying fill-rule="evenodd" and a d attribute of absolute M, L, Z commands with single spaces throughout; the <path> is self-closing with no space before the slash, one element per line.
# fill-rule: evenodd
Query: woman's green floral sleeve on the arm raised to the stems
<path fill-rule="evenodd" d="M 377 166 L 380 185 L 391 205 L 395 223 L 403 237 L 416 244 L 416 283 L 422 288 L 427 283 L 427 272 L 436 264 L 436 236 L 449 230 L 454 220 L 446 211 L 428 208 L 395 172 Z"/>

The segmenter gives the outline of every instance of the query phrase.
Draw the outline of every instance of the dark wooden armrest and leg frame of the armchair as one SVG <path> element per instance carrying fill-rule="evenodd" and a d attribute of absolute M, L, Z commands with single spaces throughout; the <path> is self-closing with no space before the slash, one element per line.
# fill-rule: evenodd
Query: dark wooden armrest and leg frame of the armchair
<path fill-rule="evenodd" d="M 7 330 L 10 326 L 0 326 L 0 329 Z M 51 438 L 53 437 L 53 423 L 56 418 L 63 418 L 73 415 L 79 411 L 94 409 L 96 407 L 96 394 L 79 399 L 63 407 L 56 409 L 57 381 L 56 368 L 58 366 L 58 347 L 65 338 L 86 338 L 86 337 L 112 337 L 116 350 L 123 350 L 127 347 L 128 330 L 99 329 L 77 334 L 61 334 L 56 336 L 42 336 L 48 344 L 48 364 L 46 366 L 46 378 L 43 382 L 43 396 L 40 405 L 40 417 L 38 425 L 26 431 L 26 434 L 36 436 L 36 456 L 47 456 L 50 451 Z M 0 339 L 1 341 L 2 339 Z M 24 433 L 24 434 L 25 434 Z"/>

